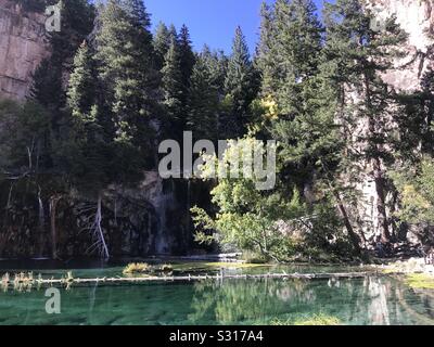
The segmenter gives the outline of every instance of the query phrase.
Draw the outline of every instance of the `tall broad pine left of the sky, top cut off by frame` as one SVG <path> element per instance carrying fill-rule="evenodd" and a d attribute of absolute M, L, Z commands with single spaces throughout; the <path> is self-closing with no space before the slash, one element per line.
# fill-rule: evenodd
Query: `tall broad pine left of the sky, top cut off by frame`
<path fill-rule="evenodd" d="M 151 144 L 149 121 L 157 88 L 149 15 L 140 0 L 110 0 L 100 22 L 99 76 L 115 118 L 116 141 L 144 150 Z"/>

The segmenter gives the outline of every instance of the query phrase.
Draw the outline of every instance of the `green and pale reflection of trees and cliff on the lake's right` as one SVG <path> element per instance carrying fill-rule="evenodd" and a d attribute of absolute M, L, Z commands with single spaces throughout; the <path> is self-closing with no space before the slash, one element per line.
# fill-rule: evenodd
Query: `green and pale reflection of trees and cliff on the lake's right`
<path fill-rule="evenodd" d="M 219 281 L 194 284 L 189 323 L 268 324 L 275 319 L 293 321 L 317 313 L 337 317 L 344 324 L 412 324 L 426 321 L 422 300 L 388 278 L 326 281 Z M 430 304 L 424 304 L 427 301 Z M 420 314 L 421 317 L 418 317 Z M 431 321 L 433 324 L 434 321 Z"/>

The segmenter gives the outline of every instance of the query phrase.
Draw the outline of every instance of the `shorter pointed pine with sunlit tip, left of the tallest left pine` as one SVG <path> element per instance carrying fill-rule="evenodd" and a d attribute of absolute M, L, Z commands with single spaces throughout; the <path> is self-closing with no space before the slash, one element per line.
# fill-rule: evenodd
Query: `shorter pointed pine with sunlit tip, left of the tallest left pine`
<path fill-rule="evenodd" d="M 91 50 L 84 43 L 75 56 L 67 91 L 67 104 L 73 117 L 72 131 L 68 141 L 63 141 L 60 152 L 67 162 L 75 187 L 90 196 L 97 196 L 113 182 L 116 172 L 111 166 L 113 145 L 97 95 L 95 62 Z"/>

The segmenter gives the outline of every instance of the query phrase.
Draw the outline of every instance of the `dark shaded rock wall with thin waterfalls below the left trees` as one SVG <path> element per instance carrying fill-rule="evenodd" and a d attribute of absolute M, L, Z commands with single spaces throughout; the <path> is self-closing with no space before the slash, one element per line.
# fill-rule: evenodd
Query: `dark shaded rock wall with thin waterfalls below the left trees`
<path fill-rule="evenodd" d="M 51 256 L 53 240 L 62 259 L 98 255 L 91 230 L 95 208 L 94 201 L 81 196 L 62 196 L 54 215 L 48 200 L 39 206 L 12 203 L 2 216 L 0 258 Z M 187 206 L 156 171 L 145 172 L 136 189 L 111 187 L 102 196 L 101 228 L 112 257 L 186 255 L 192 249 L 189 226 Z"/>

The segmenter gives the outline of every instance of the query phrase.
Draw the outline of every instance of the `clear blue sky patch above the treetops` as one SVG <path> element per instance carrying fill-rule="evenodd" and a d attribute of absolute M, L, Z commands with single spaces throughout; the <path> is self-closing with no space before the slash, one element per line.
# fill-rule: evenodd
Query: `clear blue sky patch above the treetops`
<path fill-rule="evenodd" d="M 162 21 L 175 24 L 177 29 L 186 24 L 195 50 L 204 43 L 229 53 L 235 27 L 240 25 L 247 38 L 251 53 L 258 40 L 260 4 L 263 0 L 144 0 L 152 14 L 153 27 Z M 272 0 L 268 0 L 272 2 Z M 322 7 L 322 0 L 316 0 Z"/>

